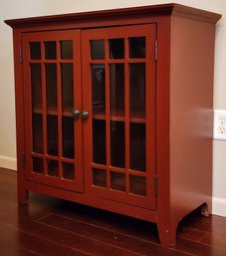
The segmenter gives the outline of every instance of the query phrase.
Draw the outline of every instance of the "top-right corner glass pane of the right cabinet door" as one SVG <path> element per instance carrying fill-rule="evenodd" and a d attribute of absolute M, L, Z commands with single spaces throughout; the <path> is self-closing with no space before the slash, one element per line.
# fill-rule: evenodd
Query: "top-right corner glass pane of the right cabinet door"
<path fill-rule="evenodd" d="M 145 37 L 128 39 L 129 58 L 145 58 Z"/>

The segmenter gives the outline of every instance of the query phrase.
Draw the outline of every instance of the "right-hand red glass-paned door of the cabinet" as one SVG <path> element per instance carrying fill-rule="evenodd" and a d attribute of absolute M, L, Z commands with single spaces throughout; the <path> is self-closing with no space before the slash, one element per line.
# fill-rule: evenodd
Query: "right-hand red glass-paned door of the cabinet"
<path fill-rule="evenodd" d="M 86 192 L 155 208 L 155 24 L 82 33 Z"/>

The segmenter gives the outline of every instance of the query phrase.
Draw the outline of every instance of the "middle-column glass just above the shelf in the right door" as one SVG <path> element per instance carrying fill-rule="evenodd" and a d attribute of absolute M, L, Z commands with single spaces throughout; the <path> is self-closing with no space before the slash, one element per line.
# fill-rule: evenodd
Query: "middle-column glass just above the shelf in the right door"
<path fill-rule="evenodd" d="M 124 116 L 124 65 L 110 65 L 111 114 Z"/>

